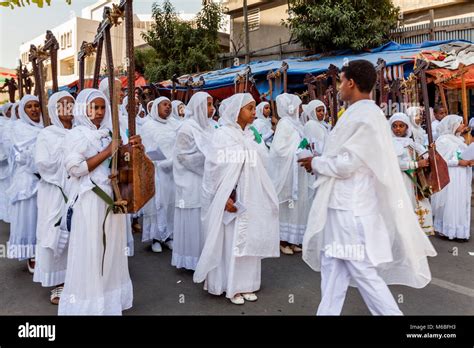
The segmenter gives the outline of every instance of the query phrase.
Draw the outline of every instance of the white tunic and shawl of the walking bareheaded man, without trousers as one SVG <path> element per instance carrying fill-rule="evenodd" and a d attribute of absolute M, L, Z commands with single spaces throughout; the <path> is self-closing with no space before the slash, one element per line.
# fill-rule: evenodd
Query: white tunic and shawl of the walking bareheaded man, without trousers
<path fill-rule="evenodd" d="M 400 189 L 404 184 L 391 138 L 380 108 L 361 100 L 346 110 L 323 155 L 313 159 L 317 191 L 303 259 L 314 270 L 321 270 L 326 245 L 340 241 L 362 243 L 364 255 L 387 284 L 420 288 L 431 280 L 426 256 L 436 252 L 418 224 L 408 193 Z M 347 214 L 363 227 L 364 238 L 356 243 L 351 241 L 351 225 L 343 223 Z"/>

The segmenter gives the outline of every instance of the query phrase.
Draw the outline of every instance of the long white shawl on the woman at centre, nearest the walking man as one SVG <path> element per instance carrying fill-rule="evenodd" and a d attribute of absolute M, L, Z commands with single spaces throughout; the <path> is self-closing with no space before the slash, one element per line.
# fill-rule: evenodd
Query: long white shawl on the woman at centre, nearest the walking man
<path fill-rule="evenodd" d="M 250 98 L 249 98 L 250 96 Z M 237 199 L 246 207 L 235 221 L 234 255 L 253 257 L 279 256 L 278 199 L 263 166 L 249 161 L 257 153 L 257 144 L 236 123 L 240 109 L 252 101 L 250 94 L 229 98 L 221 117 L 223 126 L 215 131 L 213 151 L 206 158 L 202 185 L 202 221 L 204 248 L 193 280 L 200 283 L 219 266 L 224 250 L 224 207 L 236 185 Z M 223 161 L 224 154 L 242 154 L 240 160 Z"/>

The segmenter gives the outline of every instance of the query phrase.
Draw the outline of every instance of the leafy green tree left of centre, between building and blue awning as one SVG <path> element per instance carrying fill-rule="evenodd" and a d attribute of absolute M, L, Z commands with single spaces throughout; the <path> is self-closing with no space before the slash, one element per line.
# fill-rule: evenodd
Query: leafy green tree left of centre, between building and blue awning
<path fill-rule="evenodd" d="M 220 52 L 218 30 L 223 9 L 212 1 L 205 2 L 193 22 L 179 19 L 175 8 L 166 0 L 152 6 L 154 23 L 142 33 L 152 49 L 137 50 L 136 65 L 151 81 L 169 79 L 173 74 L 187 74 L 212 69 Z"/>

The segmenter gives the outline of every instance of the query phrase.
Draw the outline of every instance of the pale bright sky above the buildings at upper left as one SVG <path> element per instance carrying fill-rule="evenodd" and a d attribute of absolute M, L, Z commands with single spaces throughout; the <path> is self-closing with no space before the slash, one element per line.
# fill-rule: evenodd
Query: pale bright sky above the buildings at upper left
<path fill-rule="evenodd" d="M 72 0 L 71 5 L 66 0 L 51 0 L 51 6 L 38 8 L 35 4 L 17 7 L 0 7 L 0 67 L 16 68 L 19 48 L 23 42 L 39 35 L 46 30 L 60 25 L 74 15 L 80 16 L 83 7 L 92 5 L 97 0 Z M 135 0 L 134 12 L 151 13 L 154 2 L 163 0 Z M 176 11 L 196 13 L 201 7 L 201 0 L 171 0 Z"/>

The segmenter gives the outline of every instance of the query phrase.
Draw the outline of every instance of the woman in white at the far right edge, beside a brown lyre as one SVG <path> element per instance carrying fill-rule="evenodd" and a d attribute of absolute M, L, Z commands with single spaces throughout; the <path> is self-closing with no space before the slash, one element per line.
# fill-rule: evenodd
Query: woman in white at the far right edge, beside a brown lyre
<path fill-rule="evenodd" d="M 438 126 L 436 149 L 448 163 L 449 184 L 432 196 L 434 227 L 449 239 L 467 241 L 471 225 L 471 181 L 474 161 L 462 159 L 467 148 L 461 134 L 466 130 L 461 116 L 444 117 Z"/>

